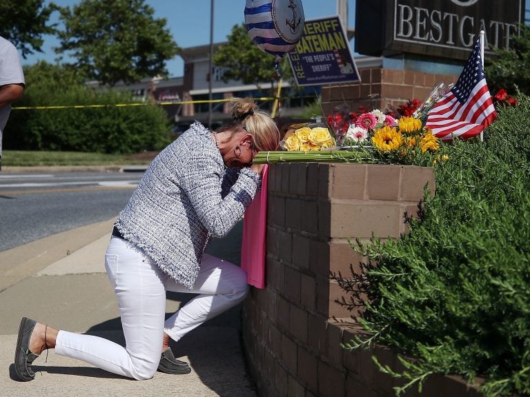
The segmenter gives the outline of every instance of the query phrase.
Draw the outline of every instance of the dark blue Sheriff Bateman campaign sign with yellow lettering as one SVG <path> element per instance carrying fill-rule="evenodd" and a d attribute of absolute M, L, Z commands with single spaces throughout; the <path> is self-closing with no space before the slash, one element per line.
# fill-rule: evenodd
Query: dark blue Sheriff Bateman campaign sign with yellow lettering
<path fill-rule="evenodd" d="M 287 54 L 298 85 L 361 80 L 339 17 L 306 20 L 304 34 Z"/>

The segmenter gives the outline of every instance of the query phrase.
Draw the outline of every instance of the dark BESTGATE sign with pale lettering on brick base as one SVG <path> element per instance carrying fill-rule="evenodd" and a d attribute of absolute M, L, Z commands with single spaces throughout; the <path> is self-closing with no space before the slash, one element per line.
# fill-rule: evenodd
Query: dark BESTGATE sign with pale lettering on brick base
<path fill-rule="evenodd" d="M 356 3 L 355 50 L 467 59 L 480 30 L 484 51 L 507 49 L 524 22 L 524 0 L 375 0 Z"/>

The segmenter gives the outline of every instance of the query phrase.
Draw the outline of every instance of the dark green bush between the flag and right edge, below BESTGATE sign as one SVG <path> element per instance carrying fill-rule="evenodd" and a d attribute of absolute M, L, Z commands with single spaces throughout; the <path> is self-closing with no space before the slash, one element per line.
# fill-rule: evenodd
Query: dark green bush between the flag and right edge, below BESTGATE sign
<path fill-rule="evenodd" d="M 530 95 L 530 26 L 520 25 L 520 36 L 512 36 L 511 44 L 511 50 L 495 49 L 498 58 L 485 68 L 489 89 L 493 93 L 500 88 L 509 93 L 520 90 Z"/>

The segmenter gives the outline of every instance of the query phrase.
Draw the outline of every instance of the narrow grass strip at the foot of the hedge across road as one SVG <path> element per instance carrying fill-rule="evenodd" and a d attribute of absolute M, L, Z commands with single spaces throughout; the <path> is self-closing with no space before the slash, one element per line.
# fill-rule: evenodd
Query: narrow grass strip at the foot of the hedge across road
<path fill-rule="evenodd" d="M 6 167 L 35 167 L 39 165 L 144 165 L 150 163 L 156 155 L 157 152 L 104 154 L 4 150 L 2 153 L 2 165 Z"/>

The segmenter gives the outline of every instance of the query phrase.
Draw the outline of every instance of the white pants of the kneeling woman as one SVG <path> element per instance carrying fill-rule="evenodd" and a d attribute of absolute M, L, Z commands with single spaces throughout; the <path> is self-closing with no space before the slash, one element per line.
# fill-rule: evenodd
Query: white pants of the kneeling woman
<path fill-rule="evenodd" d="M 55 353 L 135 379 L 157 371 L 164 331 L 173 340 L 243 301 L 248 292 L 240 267 L 204 254 L 195 287 L 175 283 L 142 250 L 112 236 L 105 267 L 118 298 L 126 347 L 97 336 L 59 331 Z M 164 322 L 166 291 L 200 294 Z"/>

